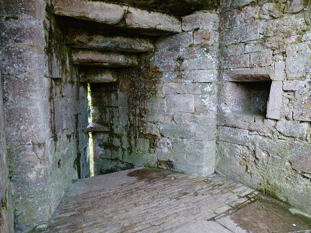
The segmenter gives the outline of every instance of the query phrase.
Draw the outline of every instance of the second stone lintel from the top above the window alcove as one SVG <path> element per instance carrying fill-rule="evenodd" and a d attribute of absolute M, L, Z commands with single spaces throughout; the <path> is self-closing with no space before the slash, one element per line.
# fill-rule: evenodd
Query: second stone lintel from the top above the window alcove
<path fill-rule="evenodd" d="M 127 52 L 154 51 L 151 39 L 124 36 L 92 35 L 80 29 L 67 31 L 66 44 L 74 48 L 102 49 Z"/>

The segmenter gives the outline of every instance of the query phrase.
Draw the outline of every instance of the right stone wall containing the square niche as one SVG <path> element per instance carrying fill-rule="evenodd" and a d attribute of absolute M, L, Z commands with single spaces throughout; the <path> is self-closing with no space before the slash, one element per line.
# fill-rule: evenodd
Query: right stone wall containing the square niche
<path fill-rule="evenodd" d="M 309 4 L 221 1 L 216 171 L 310 212 Z"/>

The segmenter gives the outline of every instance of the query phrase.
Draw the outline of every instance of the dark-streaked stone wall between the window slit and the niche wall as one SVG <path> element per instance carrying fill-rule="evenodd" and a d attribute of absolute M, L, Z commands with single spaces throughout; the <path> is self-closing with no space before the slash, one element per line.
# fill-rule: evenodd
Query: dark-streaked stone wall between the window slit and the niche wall
<path fill-rule="evenodd" d="M 218 15 L 183 17 L 182 30 L 154 37 L 155 51 L 141 53 L 137 67 L 115 69 L 118 82 L 91 83 L 92 122 L 108 128 L 92 134 L 94 174 L 214 171 Z"/>

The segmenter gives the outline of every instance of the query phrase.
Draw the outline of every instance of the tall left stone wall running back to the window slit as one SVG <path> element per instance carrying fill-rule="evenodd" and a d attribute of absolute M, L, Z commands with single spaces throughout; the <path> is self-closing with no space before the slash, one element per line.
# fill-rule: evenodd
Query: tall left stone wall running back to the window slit
<path fill-rule="evenodd" d="M 16 230 L 46 220 L 89 174 L 87 88 L 48 1 L 1 1 L 1 74 Z M 77 156 L 78 155 L 78 156 Z"/>

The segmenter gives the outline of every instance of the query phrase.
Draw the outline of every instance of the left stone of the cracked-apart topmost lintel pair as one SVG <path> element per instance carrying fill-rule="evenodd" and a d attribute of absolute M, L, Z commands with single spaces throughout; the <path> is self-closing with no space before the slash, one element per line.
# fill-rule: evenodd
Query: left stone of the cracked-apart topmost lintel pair
<path fill-rule="evenodd" d="M 124 16 L 120 5 L 103 1 L 52 0 L 54 14 L 106 24 L 117 24 Z"/>

